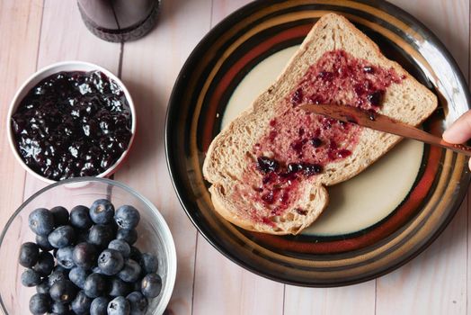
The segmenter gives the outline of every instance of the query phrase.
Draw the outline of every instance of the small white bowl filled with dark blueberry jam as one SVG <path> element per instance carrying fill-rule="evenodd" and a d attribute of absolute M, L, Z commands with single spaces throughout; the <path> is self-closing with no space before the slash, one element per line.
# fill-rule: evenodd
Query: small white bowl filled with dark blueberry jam
<path fill-rule="evenodd" d="M 65 61 L 40 69 L 20 87 L 6 126 L 22 166 L 54 183 L 114 173 L 133 142 L 136 112 L 117 76 L 91 63 Z"/>

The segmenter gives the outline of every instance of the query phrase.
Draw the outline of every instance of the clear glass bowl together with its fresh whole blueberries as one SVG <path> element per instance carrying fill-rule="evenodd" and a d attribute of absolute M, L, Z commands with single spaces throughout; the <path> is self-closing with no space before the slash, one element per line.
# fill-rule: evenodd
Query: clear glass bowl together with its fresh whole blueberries
<path fill-rule="evenodd" d="M 103 253 L 122 257 L 120 266 Z M 0 313 L 31 314 L 31 302 L 52 313 L 59 300 L 88 314 L 87 301 L 101 298 L 109 305 L 120 296 L 117 302 L 130 304 L 142 302 L 143 294 L 142 313 L 158 315 L 173 293 L 177 257 L 152 202 L 120 182 L 80 177 L 49 184 L 22 203 L 0 236 L 0 261 Z"/>

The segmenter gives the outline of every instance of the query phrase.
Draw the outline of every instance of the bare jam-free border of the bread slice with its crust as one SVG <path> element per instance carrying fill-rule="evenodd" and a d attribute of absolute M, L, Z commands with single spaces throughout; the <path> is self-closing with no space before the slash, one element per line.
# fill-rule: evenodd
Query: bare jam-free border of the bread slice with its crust
<path fill-rule="evenodd" d="M 319 48 L 323 36 L 332 36 L 333 40 Z M 249 148 L 253 148 L 254 141 L 262 136 L 268 121 L 276 117 L 276 104 L 298 84 L 307 68 L 325 51 L 333 49 L 344 49 L 356 58 L 367 59 L 373 65 L 392 67 L 399 76 L 406 77 L 401 84 L 393 84 L 387 88 L 383 106 L 378 112 L 411 125 L 418 125 L 435 110 L 437 98 L 431 91 L 417 82 L 399 64 L 384 57 L 378 45 L 347 19 L 337 14 L 325 14 L 309 31 L 276 82 L 260 94 L 252 106 L 231 121 L 209 146 L 203 164 L 203 175 L 212 184 L 209 192 L 214 209 L 224 219 L 243 229 L 276 235 L 298 234 L 326 208 L 328 193 L 325 186 L 338 184 L 358 175 L 400 141 L 401 138 L 395 135 L 376 130 L 362 130 L 359 143 L 350 157 L 329 163 L 321 175 L 303 181 L 299 200 L 304 202 L 303 209 L 308 211 L 306 215 L 296 214 L 293 207 L 286 211 L 279 221 L 267 225 L 251 220 L 244 211 L 240 211 L 238 201 L 231 200 L 228 192 L 236 189 L 237 184 L 241 183 L 240 176 L 245 167 L 244 161 L 239 161 L 236 157 L 244 156 Z M 419 104 L 421 107 L 418 107 Z M 252 128 L 251 134 L 247 135 L 244 130 L 247 126 L 262 127 Z M 238 168 L 230 166 L 233 161 L 236 161 Z"/>

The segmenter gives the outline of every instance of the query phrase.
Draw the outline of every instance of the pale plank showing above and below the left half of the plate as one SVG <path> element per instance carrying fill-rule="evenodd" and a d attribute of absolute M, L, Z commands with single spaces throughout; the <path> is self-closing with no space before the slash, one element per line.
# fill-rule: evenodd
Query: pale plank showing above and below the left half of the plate
<path fill-rule="evenodd" d="M 247 0 L 213 1 L 211 26 Z M 282 314 L 284 285 L 253 275 L 198 236 L 193 314 Z"/>

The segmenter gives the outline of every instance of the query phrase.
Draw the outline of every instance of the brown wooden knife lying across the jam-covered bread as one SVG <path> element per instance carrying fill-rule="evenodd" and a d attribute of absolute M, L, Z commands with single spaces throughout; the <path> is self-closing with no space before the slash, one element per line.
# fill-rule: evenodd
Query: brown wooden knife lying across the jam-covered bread
<path fill-rule="evenodd" d="M 328 116 L 338 121 L 356 123 L 362 127 L 392 133 L 408 139 L 416 139 L 433 146 L 449 148 L 455 152 L 463 153 L 471 157 L 471 147 L 463 144 L 449 143 L 438 136 L 415 128 L 402 121 L 396 121 L 377 112 L 364 111 L 353 106 L 336 104 L 301 104 L 299 107 L 307 112 Z"/>

